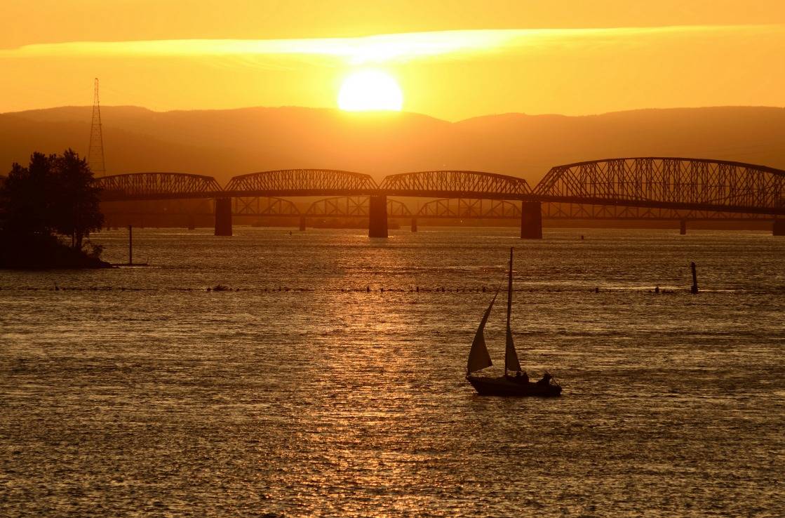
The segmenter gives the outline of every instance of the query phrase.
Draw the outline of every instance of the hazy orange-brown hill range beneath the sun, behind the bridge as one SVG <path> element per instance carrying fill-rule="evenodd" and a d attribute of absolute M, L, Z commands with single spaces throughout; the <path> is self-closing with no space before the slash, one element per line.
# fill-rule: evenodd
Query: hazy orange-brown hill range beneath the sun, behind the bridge
<path fill-rule="evenodd" d="M 32 151 L 86 153 L 92 108 L 0 114 L 0 168 Z M 377 179 L 413 170 L 484 170 L 536 184 L 551 166 L 621 156 L 683 156 L 785 169 L 785 109 L 673 108 L 603 115 L 487 115 L 447 122 L 412 113 L 319 108 L 151 111 L 101 108 L 109 174 L 178 171 L 225 182 L 298 167 Z"/>

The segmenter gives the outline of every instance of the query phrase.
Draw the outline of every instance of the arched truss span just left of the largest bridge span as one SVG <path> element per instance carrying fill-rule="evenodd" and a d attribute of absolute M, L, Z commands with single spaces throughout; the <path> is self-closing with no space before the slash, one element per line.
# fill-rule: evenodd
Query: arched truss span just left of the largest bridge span
<path fill-rule="evenodd" d="M 482 171 L 420 171 L 392 174 L 379 185 L 386 195 L 429 198 L 524 199 L 531 188 L 523 178 Z"/>

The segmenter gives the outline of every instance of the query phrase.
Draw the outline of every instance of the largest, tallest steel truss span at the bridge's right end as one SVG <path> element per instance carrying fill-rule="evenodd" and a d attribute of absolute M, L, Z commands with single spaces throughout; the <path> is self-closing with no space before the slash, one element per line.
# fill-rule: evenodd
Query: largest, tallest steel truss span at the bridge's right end
<path fill-rule="evenodd" d="M 543 202 L 785 214 L 785 171 L 742 162 L 643 157 L 553 167 Z"/>

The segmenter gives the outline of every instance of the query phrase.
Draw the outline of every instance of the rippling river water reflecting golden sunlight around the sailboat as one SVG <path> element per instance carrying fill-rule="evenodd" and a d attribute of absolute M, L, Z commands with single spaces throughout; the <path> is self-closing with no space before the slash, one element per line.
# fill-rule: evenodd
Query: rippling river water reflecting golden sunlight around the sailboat
<path fill-rule="evenodd" d="M 364 232 L 146 229 L 148 268 L 0 271 L 0 514 L 782 516 L 785 239 Z M 559 399 L 463 378 L 509 246 Z"/>

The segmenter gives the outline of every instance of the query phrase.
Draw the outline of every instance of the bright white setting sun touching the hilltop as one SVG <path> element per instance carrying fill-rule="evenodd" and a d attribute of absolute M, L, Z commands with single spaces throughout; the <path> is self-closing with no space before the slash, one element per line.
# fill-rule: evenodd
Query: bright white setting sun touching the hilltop
<path fill-rule="evenodd" d="M 355 72 L 344 79 L 338 108 L 345 111 L 400 111 L 403 93 L 395 78 L 378 70 Z"/>

